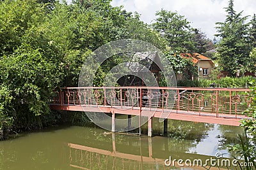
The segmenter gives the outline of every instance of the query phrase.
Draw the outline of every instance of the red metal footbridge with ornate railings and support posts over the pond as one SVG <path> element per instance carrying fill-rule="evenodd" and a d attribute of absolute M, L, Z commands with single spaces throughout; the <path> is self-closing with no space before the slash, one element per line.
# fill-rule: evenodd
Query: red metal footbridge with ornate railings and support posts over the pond
<path fill-rule="evenodd" d="M 52 110 L 88 111 L 235 125 L 252 99 L 249 89 L 188 87 L 66 87 L 55 92 Z M 131 124 L 131 122 L 129 123 Z M 115 131 L 114 129 L 112 129 Z"/>

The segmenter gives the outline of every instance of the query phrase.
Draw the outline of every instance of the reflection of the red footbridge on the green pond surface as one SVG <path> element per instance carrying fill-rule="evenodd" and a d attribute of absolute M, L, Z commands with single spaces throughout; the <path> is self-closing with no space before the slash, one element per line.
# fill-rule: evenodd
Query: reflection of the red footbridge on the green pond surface
<path fill-rule="evenodd" d="M 68 159 L 70 167 L 77 169 L 209 169 L 210 165 L 202 166 L 184 166 L 180 167 L 175 162 L 174 166 L 166 166 L 164 160 L 172 156 L 172 160 L 189 159 L 193 162 L 195 159 L 201 159 L 203 164 L 205 160 L 211 159 L 210 156 L 199 155 L 195 153 L 182 153 L 177 152 L 175 148 L 170 148 L 168 143 L 161 143 L 157 141 L 157 138 L 138 138 L 131 136 L 132 140 L 126 141 L 125 149 L 116 145 L 115 133 L 108 134 L 112 135 L 112 148 L 109 150 L 104 149 L 104 143 L 93 143 L 90 145 L 78 145 L 75 143 L 68 143 L 69 155 Z M 120 137 L 120 135 L 118 135 Z M 147 144 L 146 144 L 147 140 Z M 166 140 L 165 140 L 166 141 Z M 156 152 L 152 150 L 159 148 Z M 147 149 L 147 150 L 145 150 Z M 172 152 L 173 150 L 173 152 Z M 66 158 L 67 159 L 67 158 Z M 216 157 L 212 156 L 212 159 Z M 231 159 L 230 162 L 232 162 Z M 184 164 L 184 162 L 183 162 Z M 232 165 L 231 165 L 232 166 Z M 228 167 L 230 168 L 230 167 Z M 232 167 L 231 167 L 232 168 Z M 211 169 L 227 169 L 227 167 L 211 167 Z"/>

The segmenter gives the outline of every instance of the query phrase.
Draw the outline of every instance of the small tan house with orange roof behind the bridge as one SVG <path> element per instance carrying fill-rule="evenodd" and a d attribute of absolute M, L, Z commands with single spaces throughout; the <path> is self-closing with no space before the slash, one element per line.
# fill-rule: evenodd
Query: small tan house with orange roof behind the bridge
<path fill-rule="evenodd" d="M 186 59 L 191 59 L 194 65 L 198 68 L 198 75 L 195 75 L 198 77 L 198 80 L 200 80 L 200 78 L 209 78 L 209 75 L 214 69 L 214 63 L 211 59 L 200 53 L 181 53 L 180 55 Z M 195 76 L 191 76 L 192 80 Z"/>

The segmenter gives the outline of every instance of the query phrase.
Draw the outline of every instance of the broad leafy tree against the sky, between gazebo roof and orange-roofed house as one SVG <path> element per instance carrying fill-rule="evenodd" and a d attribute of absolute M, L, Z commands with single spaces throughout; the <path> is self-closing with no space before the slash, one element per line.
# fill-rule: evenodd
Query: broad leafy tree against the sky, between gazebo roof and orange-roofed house
<path fill-rule="evenodd" d="M 193 29 L 184 16 L 162 9 L 156 12 L 156 17 L 152 27 L 168 41 L 173 51 L 195 52 Z"/>

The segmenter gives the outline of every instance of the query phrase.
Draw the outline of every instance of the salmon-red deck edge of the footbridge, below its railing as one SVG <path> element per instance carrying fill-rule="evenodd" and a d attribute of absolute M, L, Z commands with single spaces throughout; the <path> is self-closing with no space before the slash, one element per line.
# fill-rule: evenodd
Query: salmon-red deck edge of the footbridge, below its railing
<path fill-rule="evenodd" d="M 100 106 L 100 105 L 91 105 L 91 106 L 83 106 L 83 105 L 68 105 L 68 104 L 52 104 L 52 110 L 66 110 L 66 111 L 88 111 L 88 112 L 104 112 L 104 113 L 117 113 L 122 115 L 140 115 L 139 107 L 115 107 L 111 108 L 111 106 Z M 142 117 L 156 117 L 161 118 L 164 117 L 173 120 L 185 120 L 185 121 L 193 121 L 193 122 L 203 122 L 209 124 L 221 124 L 221 125 L 234 125 L 239 126 L 241 123 L 239 122 L 243 118 L 248 118 L 244 115 L 229 115 L 229 114 L 216 114 L 207 113 L 207 112 L 199 112 L 198 111 L 185 111 L 185 110 L 163 110 L 156 109 L 151 110 L 150 108 L 141 108 L 141 116 Z M 161 116 L 162 115 L 162 116 Z"/>

